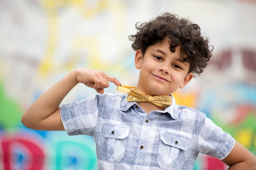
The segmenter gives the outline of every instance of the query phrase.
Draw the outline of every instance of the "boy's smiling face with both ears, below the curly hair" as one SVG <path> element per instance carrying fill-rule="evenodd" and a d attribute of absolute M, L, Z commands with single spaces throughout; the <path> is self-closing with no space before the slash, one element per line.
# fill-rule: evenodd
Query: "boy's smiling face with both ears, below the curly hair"
<path fill-rule="evenodd" d="M 180 46 L 171 52 L 167 38 L 149 46 L 144 56 L 137 50 L 135 66 L 140 69 L 137 88 L 148 95 L 171 95 L 193 78 L 193 73 L 187 74 L 189 63 L 183 61 Z"/>

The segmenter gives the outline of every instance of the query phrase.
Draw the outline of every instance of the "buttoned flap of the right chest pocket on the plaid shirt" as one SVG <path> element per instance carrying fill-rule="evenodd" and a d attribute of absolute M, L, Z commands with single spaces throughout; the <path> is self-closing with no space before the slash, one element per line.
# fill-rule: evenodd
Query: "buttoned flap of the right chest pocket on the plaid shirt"
<path fill-rule="evenodd" d="M 182 150 L 187 150 L 190 146 L 190 138 L 184 135 L 179 135 L 172 132 L 160 132 L 160 138 L 164 144 L 179 148 Z"/>

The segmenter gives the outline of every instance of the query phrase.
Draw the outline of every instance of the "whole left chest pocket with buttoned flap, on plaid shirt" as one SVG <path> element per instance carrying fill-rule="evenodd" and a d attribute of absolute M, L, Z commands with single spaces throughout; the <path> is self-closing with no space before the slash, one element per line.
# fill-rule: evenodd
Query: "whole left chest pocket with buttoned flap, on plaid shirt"
<path fill-rule="evenodd" d="M 109 162 L 119 162 L 124 158 L 128 143 L 130 126 L 103 124 L 103 144 L 101 146 L 101 159 Z"/>

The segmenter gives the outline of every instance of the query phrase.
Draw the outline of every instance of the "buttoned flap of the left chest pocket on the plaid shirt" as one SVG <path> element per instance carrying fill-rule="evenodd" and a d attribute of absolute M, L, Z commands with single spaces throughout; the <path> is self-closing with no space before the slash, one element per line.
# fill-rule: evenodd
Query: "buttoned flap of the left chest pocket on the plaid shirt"
<path fill-rule="evenodd" d="M 105 123 L 102 125 L 102 132 L 103 137 L 124 139 L 129 135 L 130 126 Z"/>

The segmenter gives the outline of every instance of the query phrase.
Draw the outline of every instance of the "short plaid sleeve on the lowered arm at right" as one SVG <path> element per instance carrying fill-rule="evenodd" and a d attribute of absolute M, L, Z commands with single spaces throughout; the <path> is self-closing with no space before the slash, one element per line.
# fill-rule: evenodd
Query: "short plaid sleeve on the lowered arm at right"
<path fill-rule="evenodd" d="M 206 117 L 198 139 L 199 152 L 222 160 L 234 145 L 235 139 Z"/>

